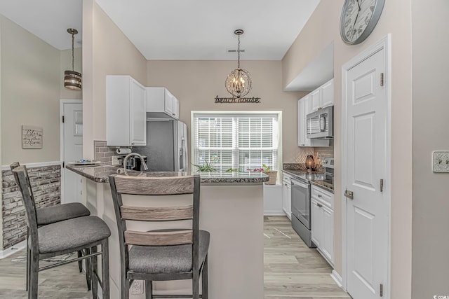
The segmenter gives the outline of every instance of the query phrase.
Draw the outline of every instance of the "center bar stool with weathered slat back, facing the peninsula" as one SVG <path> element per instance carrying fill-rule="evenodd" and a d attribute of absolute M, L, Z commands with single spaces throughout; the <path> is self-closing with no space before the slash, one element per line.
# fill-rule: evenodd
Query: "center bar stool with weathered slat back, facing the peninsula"
<path fill-rule="evenodd" d="M 145 280 L 145 298 L 208 299 L 210 234 L 199 230 L 199 176 L 113 175 L 109 176 L 109 184 L 119 230 L 121 299 L 129 298 L 130 284 L 134 279 Z M 128 195 L 133 195 L 132 202 L 135 202 L 135 195 L 154 195 L 145 198 L 145 205 L 149 203 L 152 207 L 135 207 L 128 202 Z M 178 227 L 175 225 L 170 225 L 170 229 L 150 231 L 126 228 L 127 221 L 156 221 L 160 224 L 162 221 L 186 220 L 189 222 L 187 228 L 173 229 Z M 202 295 L 199 294 L 200 274 Z M 153 295 L 152 281 L 178 279 L 192 279 L 192 294 Z"/>

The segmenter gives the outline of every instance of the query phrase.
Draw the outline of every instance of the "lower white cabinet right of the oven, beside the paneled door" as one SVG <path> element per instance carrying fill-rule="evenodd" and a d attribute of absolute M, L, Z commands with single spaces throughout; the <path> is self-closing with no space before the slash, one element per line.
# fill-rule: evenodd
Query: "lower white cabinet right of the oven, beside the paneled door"
<path fill-rule="evenodd" d="M 334 196 L 311 186 L 311 240 L 316 249 L 334 266 Z"/>

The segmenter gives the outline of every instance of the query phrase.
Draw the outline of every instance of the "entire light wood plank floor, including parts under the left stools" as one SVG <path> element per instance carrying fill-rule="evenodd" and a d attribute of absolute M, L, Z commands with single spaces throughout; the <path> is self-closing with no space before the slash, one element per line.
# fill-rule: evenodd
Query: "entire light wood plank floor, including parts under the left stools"
<path fill-rule="evenodd" d="M 22 250 L 0 260 L 0 298 L 27 298 L 26 263 L 12 261 L 24 254 Z M 264 299 L 350 299 L 330 278 L 330 272 L 326 260 L 302 242 L 288 218 L 264 217 Z M 71 263 L 39 273 L 39 298 L 92 295 L 87 291 L 86 277 L 78 272 L 78 264 Z"/>

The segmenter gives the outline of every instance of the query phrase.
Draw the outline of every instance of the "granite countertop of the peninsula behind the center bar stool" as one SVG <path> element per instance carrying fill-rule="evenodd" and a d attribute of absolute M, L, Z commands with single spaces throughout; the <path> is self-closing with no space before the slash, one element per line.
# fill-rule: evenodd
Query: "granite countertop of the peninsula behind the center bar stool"
<path fill-rule="evenodd" d="M 65 168 L 76 172 L 97 183 L 107 183 L 112 174 L 127 174 L 128 176 L 187 176 L 194 172 L 137 172 L 116 166 L 74 166 Z M 269 181 L 269 176 L 262 172 L 201 172 L 201 183 L 263 183 Z"/>

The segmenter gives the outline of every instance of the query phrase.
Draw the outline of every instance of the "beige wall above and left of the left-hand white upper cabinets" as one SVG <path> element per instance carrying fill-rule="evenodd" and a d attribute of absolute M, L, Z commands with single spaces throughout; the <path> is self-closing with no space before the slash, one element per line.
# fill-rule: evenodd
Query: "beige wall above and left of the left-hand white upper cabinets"
<path fill-rule="evenodd" d="M 83 156 L 106 140 L 106 75 L 130 75 L 143 85 L 147 60 L 93 0 L 83 0 Z"/>

